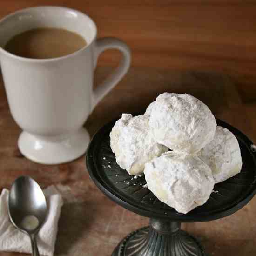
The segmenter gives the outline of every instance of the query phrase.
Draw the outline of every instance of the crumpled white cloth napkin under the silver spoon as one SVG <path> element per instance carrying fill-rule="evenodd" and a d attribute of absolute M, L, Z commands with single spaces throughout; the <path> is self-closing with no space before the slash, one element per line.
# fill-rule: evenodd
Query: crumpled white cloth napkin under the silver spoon
<path fill-rule="evenodd" d="M 47 200 L 48 215 L 38 233 L 37 245 L 40 255 L 53 256 L 63 200 L 54 186 L 44 189 L 44 194 Z M 7 189 L 3 189 L 0 195 L 0 251 L 31 253 L 29 237 L 14 228 L 9 220 L 8 195 Z"/>

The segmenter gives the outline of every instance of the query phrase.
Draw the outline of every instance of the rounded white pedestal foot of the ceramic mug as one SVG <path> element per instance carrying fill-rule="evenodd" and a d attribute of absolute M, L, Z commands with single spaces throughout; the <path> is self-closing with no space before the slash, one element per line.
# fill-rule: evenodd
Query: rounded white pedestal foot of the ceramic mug
<path fill-rule="evenodd" d="M 18 140 L 22 155 L 33 162 L 42 164 L 61 164 L 70 162 L 83 155 L 90 142 L 85 128 L 61 140 L 44 140 L 23 131 Z"/>

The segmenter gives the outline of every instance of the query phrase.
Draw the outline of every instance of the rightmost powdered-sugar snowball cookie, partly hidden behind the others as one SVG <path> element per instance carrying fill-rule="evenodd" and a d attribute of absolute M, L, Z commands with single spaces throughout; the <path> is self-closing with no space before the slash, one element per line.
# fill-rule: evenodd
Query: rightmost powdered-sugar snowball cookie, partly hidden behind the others
<path fill-rule="evenodd" d="M 198 157 L 212 169 L 216 183 L 238 174 L 242 168 L 238 141 L 228 129 L 221 126 L 217 126 L 214 139 L 202 148 Z"/>

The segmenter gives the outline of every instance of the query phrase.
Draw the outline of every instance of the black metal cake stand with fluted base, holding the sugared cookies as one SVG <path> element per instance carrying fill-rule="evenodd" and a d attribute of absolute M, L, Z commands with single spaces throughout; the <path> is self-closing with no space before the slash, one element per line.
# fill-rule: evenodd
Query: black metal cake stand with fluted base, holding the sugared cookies
<path fill-rule="evenodd" d="M 145 186 L 143 175 L 130 176 L 115 162 L 109 137 L 115 121 L 102 127 L 88 146 L 88 172 L 105 195 L 122 207 L 149 217 L 150 225 L 125 237 L 112 256 L 204 256 L 200 243 L 181 230 L 181 223 L 205 222 L 229 216 L 253 198 L 256 193 L 256 152 L 252 150 L 252 142 L 236 128 L 217 120 L 218 125 L 228 128 L 239 141 L 242 171 L 216 184 L 205 204 L 188 214 L 180 214 L 153 195 Z"/>

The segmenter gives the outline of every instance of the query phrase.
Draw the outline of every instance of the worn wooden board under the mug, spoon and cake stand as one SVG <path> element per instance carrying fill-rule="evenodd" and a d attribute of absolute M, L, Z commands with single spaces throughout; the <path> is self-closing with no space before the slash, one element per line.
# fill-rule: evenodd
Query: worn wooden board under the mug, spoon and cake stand
<path fill-rule="evenodd" d="M 98 67 L 99 83 L 111 67 Z M 256 141 L 256 103 L 244 103 L 226 76 L 201 72 L 133 67 L 94 109 L 85 127 L 93 135 L 122 112 L 143 110 L 165 91 L 189 93 L 209 105 L 217 118 L 229 122 Z M 84 156 L 62 165 L 41 165 L 27 160 L 17 148 L 20 128 L 10 114 L 0 81 L 0 192 L 19 175 L 30 175 L 45 188 L 56 185 L 65 198 L 61 210 L 55 256 L 109 256 L 129 232 L 148 225 L 148 219 L 111 202 L 89 179 Z M 256 198 L 232 216 L 203 223 L 183 224 L 209 256 L 256 255 Z M 0 252 L 0 256 L 25 254 Z"/>

